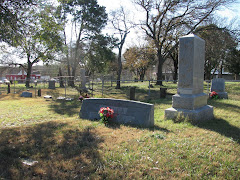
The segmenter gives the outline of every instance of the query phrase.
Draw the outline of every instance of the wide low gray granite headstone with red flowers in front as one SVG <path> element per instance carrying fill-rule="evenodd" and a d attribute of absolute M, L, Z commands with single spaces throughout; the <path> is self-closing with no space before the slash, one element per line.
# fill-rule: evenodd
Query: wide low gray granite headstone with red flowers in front
<path fill-rule="evenodd" d="M 84 99 L 80 110 L 80 118 L 100 119 L 100 108 L 109 107 L 114 110 L 112 121 L 118 124 L 129 124 L 140 127 L 154 126 L 154 105 L 121 99 L 89 98 Z"/>

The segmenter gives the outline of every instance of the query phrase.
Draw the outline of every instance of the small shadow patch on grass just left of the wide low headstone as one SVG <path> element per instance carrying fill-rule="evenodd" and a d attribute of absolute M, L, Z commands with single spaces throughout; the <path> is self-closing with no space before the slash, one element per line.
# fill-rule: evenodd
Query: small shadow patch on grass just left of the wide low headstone
<path fill-rule="evenodd" d="M 53 101 L 50 104 L 50 109 L 61 115 L 74 116 L 80 111 L 80 102 L 77 100 L 74 101 Z"/>

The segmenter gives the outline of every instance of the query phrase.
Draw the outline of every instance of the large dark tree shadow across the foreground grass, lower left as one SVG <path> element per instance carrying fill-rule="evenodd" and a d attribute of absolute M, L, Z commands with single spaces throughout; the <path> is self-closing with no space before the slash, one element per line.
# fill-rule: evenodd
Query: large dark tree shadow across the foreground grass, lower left
<path fill-rule="evenodd" d="M 103 167 L 97 151 L 103 139 L 91 128 L 48 122 L 3 129 L 0 135 L 3 179 L 85 179 Z M 37 163 L 26 165 L 24 160 Z"/>

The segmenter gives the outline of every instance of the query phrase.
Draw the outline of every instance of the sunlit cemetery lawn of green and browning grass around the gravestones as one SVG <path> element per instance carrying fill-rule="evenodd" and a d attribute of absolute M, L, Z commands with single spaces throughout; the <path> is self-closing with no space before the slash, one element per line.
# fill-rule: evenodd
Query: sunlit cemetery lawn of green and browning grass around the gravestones
<path fill-rule="evenodd" d="M 226 92 L 228 100 L 208 102 L 215 119 L 199 125 L 164 120 L 171 95 L 139 95 L 155 105 L 152 129 L 80 119 L 78 101 L 1 95 L 0 179 L 239 179 L 240 84 L 226 83 Z"/>

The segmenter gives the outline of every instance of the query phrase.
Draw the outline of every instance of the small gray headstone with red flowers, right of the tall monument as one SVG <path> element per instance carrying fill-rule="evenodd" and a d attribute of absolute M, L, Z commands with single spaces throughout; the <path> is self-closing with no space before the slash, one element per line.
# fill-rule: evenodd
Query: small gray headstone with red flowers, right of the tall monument
<path fill-rule="evenodd" d="M 219 98 L 228 99 L 228 93 L 225 92 L 225 79 L 213 79 L 211 84 L 211 92 L 213 91 L 218 93 Z"/>

